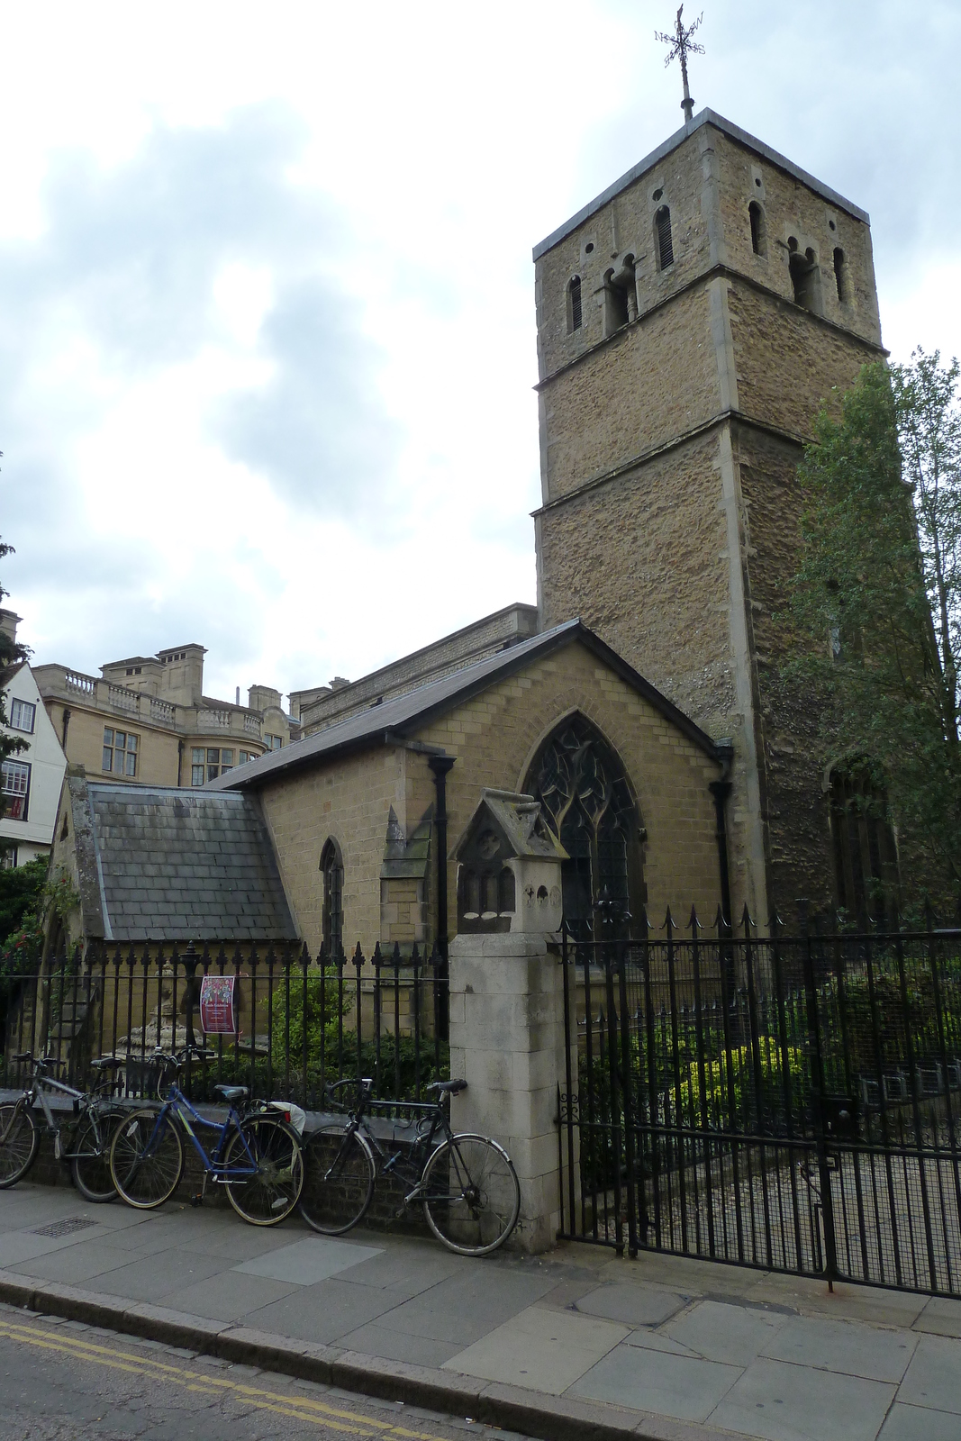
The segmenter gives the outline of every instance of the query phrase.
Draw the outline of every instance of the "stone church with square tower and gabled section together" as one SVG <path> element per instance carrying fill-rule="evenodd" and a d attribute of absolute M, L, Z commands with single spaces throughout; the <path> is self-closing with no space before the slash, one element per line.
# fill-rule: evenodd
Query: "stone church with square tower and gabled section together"
<path fill-rule="evenodd" d="M 507 921 L 516 898 L 493 876 L 458 896 L 451 860 L 490 788 L 540 801 L 575 927 L 602 893 L 653 924 L 746 905 L 762 929 L 846 901 L 817 716 L 775 672 L 803 447 L 885 354 L 869 218 L 706 110 L 535 264 L 536 610 L 295 693 L 301 739 L 200 793 L 258 808 L 311 950 Z"/>

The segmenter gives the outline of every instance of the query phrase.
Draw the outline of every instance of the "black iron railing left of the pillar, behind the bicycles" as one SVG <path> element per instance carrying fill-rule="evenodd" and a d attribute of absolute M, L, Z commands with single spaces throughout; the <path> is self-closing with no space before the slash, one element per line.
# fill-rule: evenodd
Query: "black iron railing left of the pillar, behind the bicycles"
<path fill-rule="evenodd" d="M 232 981 L 229 1033 L 203 1030 L 205 977 Z M 311 957 L 298 947 L 92 945 L 29 976 L 0 976 L 0 1087 L 23 1084 L 29 1068 L 13 1058 L 24 1050 L 56 1056 L 81 1088 L 89 1062 L 112 1055 L 124 1094 L 148 1095 L 154 1052 L 197 1045 L 212 1056 L 187 1066 L 195 1099 L 239 1084 L 316 1108 L 327 1081 L 357 1074 L 375 1076 L 377 1097 L 419 1099 L 450 1075 L 447 984 L 439 953 L 416 945 L 377 945 L 370 957 L 360 947 Z"/>

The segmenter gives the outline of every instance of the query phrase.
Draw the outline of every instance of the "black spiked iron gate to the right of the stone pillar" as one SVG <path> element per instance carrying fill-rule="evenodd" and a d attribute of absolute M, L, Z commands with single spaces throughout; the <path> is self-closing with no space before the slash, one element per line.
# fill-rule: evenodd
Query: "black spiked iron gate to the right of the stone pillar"
<path fill-rule="evenodd" d="M 961 1295 L 961 931 L 562 947 L 560 1235 Z"/>

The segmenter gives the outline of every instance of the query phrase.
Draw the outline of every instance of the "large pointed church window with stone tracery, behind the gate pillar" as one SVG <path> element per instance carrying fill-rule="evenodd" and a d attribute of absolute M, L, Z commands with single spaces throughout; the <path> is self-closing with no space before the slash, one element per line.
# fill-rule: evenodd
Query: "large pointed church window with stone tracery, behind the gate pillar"
<path fill-rule="evenodd" d="M 637 803 L 617 752 L 581 715 L 547 736 L 524 790 L 540 801 L 569 860 L 563 863 L 563 914 L 575 935 L 594 924 L 607 892 L 628 911 L 641 904 Z"/>

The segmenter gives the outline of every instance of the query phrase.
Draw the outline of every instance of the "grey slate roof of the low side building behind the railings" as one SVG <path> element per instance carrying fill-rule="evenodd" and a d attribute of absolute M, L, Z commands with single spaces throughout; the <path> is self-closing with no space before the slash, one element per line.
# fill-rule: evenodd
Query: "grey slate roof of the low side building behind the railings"
<path fill-rule="evenodd" d="M 86 827 L 75 824 L 78 846 L 84 834 L 92 849 L 86 857 L 78 855 L 78 863 L 88 875 L 95 869 L 97 886 L 89 889 L 99 892 L 99 916 L 94 895 L 94 905 L 84 905 L 88 935 L 183 942 L 297 938 L 255 798 L 76 777 L 71 794 L 75 821 L 86 820 Z"/>

